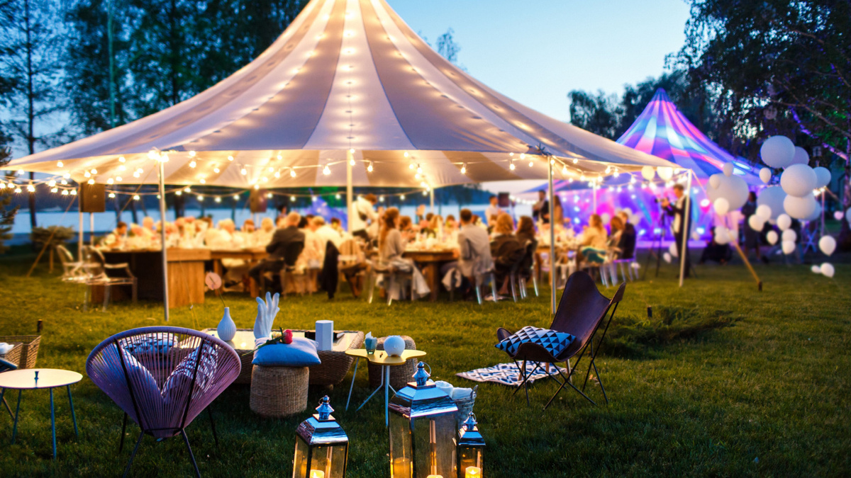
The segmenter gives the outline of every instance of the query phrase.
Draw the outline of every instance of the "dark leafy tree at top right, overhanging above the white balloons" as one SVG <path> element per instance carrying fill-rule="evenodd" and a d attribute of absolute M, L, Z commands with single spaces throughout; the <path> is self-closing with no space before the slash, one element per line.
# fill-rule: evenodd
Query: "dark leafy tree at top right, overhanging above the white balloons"
<path fill-rule="evenodd" d="M 791 126 L 848 162 L 851 3 L 691 0 L 675 60 L 718 89 L 735 128 L 764 136 Z"/>

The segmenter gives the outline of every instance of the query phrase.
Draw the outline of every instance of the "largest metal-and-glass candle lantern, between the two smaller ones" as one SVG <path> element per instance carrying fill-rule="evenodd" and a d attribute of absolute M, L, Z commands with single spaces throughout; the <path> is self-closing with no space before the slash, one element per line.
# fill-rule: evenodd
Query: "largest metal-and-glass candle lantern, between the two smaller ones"
<path fill-rule="evenodd" d="M 429 380 L 420 362 L 414 382 L 390 402 L 391 478 L 452 478 L 455 474 L 455 413 L 449 395 Z"/>

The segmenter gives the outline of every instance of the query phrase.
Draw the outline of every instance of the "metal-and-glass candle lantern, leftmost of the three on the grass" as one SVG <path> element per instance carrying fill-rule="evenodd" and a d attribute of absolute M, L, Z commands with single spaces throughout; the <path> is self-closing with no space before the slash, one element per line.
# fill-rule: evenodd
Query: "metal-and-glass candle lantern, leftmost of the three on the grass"
<path fill-rule="evenodd" d="M 343 478 L 349 458 L 349 437 L 331 416 L 328 395 L 319 401 L 317 413 L 295 429 L 293 478 Z"/>

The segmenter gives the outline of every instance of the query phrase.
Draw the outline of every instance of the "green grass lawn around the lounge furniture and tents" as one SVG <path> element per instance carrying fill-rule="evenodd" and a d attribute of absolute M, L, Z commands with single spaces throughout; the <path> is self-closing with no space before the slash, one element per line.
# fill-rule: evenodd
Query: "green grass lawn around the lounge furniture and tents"
<path fill-rule="evenodd" d="M 0 258 L 0 333 L 34 333 L 42 319 L 39 367 L 84 373 L 89 350 L 101 340 L 129 328 L 163 324 L 160 304 L 119 303 L 107 313 L 84 313 L 81 287 L 61 283 L 42 266 L 24 278 L 32 259 L 28 254 Z M 832 280 L 814 275 L 808 265 L 757 265 L 757 272 L 765 283 L 762 293 L 740 265 L 701 266 L 700 278 L 682 289 L 677 288 L 672 265 L 658 279 L 628 285 L 615 317 L 614 341 L 609 353 L 598 359 L 611 398 L 608 407 L 592 406 L 571 390 L 563 391 L 544 413 L 542 406 L 554 391 L 551 383 L 531 387 L 532 407 L 522 393 L 512 396 L 504 386 L 481 384 L 475 411 L 488 442 L 484 474 L 851 474 L 851 265 L 837 265 Z M 238 327 L 253 327 L 253 299 L 228 294 L 226 301 Z M 644 321 L 648 304 L 654 316 L 670 322 L 666 328 Z M 220 316 L 220 301 L 208 295 L 206 304 L 172 310 L 170 325 L 215 327 Z M 428 352 L 433 378 L 456 386 L 473 383 L 454 373 L 507 361 L 493 346 L 496 327 L 550 323 L 545 291 L 518 304 L 420 302 L 391 307 L 369 305 L 344 293 L 331 303 L 323 295 L 282 301 L 275 327 L 311 328 L 319 319 L 375 336 L 410 335 Z M 334 415 L 350 437 L 349 475 L 388 476 L 379 401 L 359 413 L 353 408 L 345 412 L 347 391 L 347 385 L 340 386 L 329 395 L 337 408 Z M 369 391 L 362 367 L 352 401 L 359 403 Z M 12 446 L 12 421 L 0 413 L 0 475 L 123 472 L 138 428 L 128 427 L 131 446 L 118 454 L 119 408 L 88 378 L 73 392 L 80 436 L 73 435 L 65 394 L 60 392 L 55 463 L 50 459 L 46 393 L 24 392 L 18 440 Z M 310 407 L 323 393 L 311 389 Z M 591 397 L 602 401 L 599 388 L 591 390 Z M 292 473 L 294 430 L 307 413 L 262 419 L 248 409 L 247 387 L 226 390 L 213 408 L 218 450 L 205 417 L 187 430 L 203 475 Z M 132 473 L 190 474 L 180 439 L 155 443 L 150 437 L 140 447 Z"/>

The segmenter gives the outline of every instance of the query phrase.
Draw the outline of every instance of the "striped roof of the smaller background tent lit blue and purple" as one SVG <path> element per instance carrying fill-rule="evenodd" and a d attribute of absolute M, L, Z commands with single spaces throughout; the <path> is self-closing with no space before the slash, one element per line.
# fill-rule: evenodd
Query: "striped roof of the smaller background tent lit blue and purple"
<path fill-rule="evenodd" d="M 734 174 L 751 185 L 762 184 L 745 160 L 736 160 L 695 128 L 663 88 L 656 90 L 653 99 L 620 136 L 618 143 L 676 162 L 680 168 L 693 170 L 698 179 L 721 173 L 723 165 L 732 162 Z"/>

